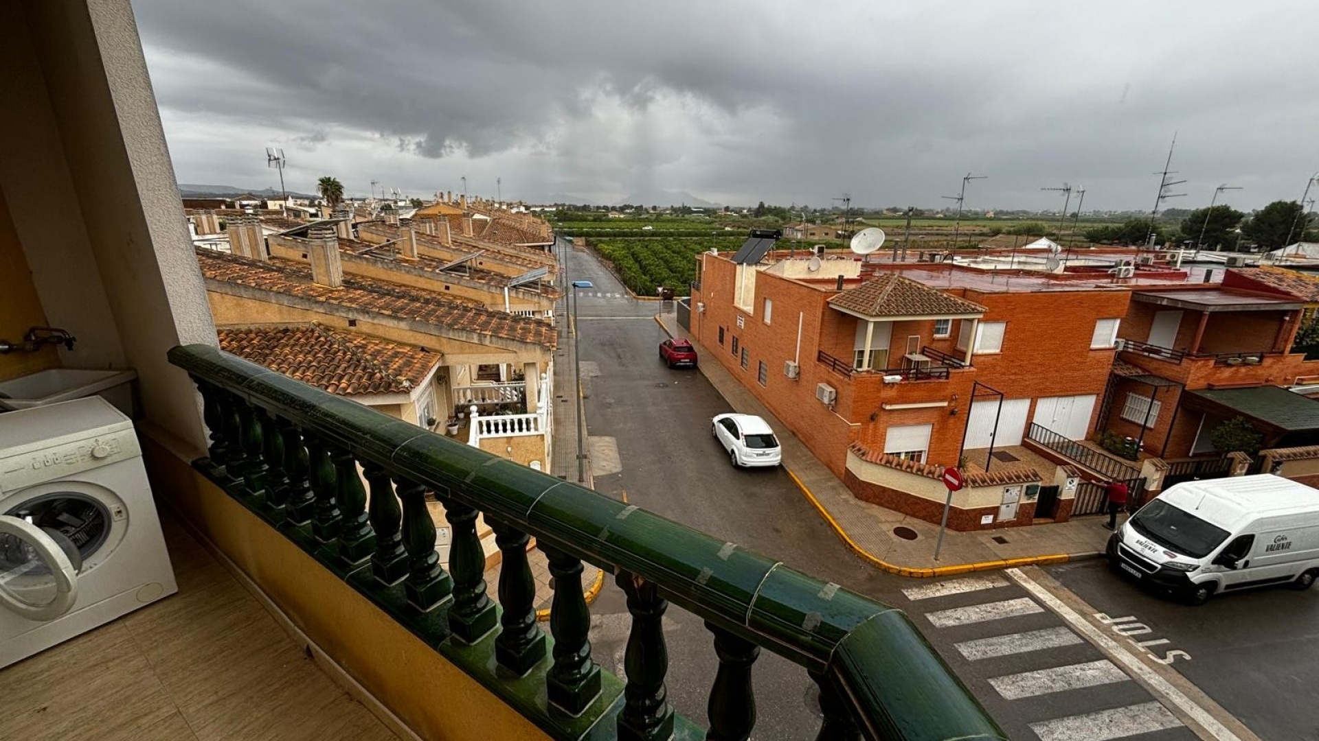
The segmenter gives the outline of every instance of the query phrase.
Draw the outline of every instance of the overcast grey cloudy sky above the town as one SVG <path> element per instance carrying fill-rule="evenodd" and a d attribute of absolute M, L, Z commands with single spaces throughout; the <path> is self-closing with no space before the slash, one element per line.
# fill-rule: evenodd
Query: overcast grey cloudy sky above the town
<path fill-rule="evenodd" d="M 136 0 L 179 182 L 609 203 L 1150 208 L 1297 199 L 1310 3 Z M 1311 194 L 1319 193 L 1319 187 Z M 1075 208 L 1075 195 L 1072 196 Z"/>

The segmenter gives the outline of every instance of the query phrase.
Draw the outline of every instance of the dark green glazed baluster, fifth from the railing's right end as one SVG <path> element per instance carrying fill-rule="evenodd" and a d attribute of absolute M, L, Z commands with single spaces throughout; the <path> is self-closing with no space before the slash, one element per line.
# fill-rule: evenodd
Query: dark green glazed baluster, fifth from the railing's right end
<path fill-rule="evenodd" d="M 492 518 L 495 545 L 503 559 L 499 571 L 500 634 L 495 638 L 495 661 L 521 676 L 545 658 L 545 633 L 536 624 L 536 578 L 526 560 L 526 533 Z"/>

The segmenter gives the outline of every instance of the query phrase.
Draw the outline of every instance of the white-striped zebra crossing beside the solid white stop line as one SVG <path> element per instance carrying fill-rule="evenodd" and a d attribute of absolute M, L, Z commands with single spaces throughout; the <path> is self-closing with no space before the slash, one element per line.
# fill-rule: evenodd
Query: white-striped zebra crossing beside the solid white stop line
<path fill-rule="evenodd" d="M 946 659 L 964 662 L 954 668 L 991 713 L 1021 719 L 1038 741 L 1196 738 L 1126 671 L 1000 574 L 902 595 L 911 601 L 909 614 L 933 626 L 930 638 L 951 645 Z"/>

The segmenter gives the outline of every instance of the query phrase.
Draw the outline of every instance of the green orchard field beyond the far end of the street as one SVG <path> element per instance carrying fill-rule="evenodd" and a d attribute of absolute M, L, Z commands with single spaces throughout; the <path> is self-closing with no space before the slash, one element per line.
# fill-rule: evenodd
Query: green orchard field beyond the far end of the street
<path fill-rule="evenodd" d="M 570 232 L 571 233 L 571 232 Z M 613 237 L 592 239 L 590 245 L 613 269 L 623 285 L 637 295 L 660 295 L 657 286 L 690 295 L 696 280 L 696 254 L 711 248 L 736 251 L 745 235 L 718 237 Z"/>

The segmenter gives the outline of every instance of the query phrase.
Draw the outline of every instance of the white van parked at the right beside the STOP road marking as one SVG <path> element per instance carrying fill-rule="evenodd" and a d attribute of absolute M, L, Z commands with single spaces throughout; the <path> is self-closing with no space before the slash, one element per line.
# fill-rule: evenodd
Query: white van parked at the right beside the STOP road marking
<path fill-rule="evenodd" d="M 1307 589 L 1319 576 L 1319 489 L 1272 475 L 1177 484 L 1113 533 L 1108 559 L 1192 604 L 1266 584 Z"/>

